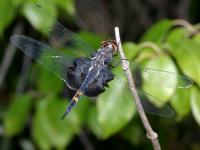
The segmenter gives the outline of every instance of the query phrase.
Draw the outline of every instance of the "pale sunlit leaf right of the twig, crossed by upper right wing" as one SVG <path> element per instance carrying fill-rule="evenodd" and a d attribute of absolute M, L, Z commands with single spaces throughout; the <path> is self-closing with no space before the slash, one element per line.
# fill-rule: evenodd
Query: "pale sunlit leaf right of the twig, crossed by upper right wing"
<path fill-rule="evenodd" d="M 160 55 L 147 61 L 145 67 L 177 73 L 176 66 L 167 55 Z M 160 74 L 160 76 L 158 73 L 154 73 L 153 71 L 152 73 L 144 72 L 142 75 L 144 79 L 143 90 L 158 98 L 155 100 L 149 97 L 156 106 L 164 105 L 174 94 L 176 89 L 177 81 L 174 80 L 173 77 L 168 76 L 169 74 L 167 74 L 167 72 L 166 75 Z"/>

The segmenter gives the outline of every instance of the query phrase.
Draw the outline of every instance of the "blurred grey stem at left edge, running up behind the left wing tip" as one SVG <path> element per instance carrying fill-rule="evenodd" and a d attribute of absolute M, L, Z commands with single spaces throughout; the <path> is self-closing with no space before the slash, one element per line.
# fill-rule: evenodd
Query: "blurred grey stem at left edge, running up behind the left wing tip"
<path fill-rule="evenodd" d="M 23 27 L 21 24 L 17 24 L 14 29 L 14 33 L 21 34 L 22 28 Z M 15 51 L 16 51 L 16 48 L 11 43 L 9 43 L 8 47 L 5 50 L 5 54 L 3 56 L 2 63 L 0 65 L 0 87 L 2 86 L 5 76 L 7 74 L 7 71 L 11 65 Z"/>

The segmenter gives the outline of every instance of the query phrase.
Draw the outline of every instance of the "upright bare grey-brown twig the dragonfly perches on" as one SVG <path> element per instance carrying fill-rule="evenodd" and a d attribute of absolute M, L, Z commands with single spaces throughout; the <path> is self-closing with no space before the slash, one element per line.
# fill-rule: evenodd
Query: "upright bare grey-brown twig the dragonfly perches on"
<path fill-rule="evenodd" d="M 131 70 L 129 68 L 129 64 L 128 64 L 129 62 L 127 61 L 125 54 L 123 52 L 123 49 L 122 49 L 118 27 L 115 27 L 115 38 L 116 38 L 116 42 L 119 46 L 118 50 L 119 50 L 120 57 L 121 57 L 122 68 L 125 71 L 126 77 L 128 79 L 129 87 L 130 87 L 131 93 L 134 97 L 134 103 L 135 103 L 135 106 L 136 106 L 137 111 L 139 113 L 140 119 L 142 120 L 144 128 L 146 129 L 147 138 L 149 138 L 151 140 L 154 150 L 160 150 L 161 147 L 160 147 L 160 143 L 158 141 L 158 135 L 151 128 L 151 125 L 148 121 L 148 118 L 147 118 L 147 116 L 144 112 L 144 108 L 143 108 L 143 106 L 140 102 L 140 98 L 139 98 L 139 95 L 138 95 L 136 87 L 135 87 L 135 83 L 134 83 L 134 80 L 133 80 L 133 77 L 132 77 L 132 74 L 131 74 Z"/>

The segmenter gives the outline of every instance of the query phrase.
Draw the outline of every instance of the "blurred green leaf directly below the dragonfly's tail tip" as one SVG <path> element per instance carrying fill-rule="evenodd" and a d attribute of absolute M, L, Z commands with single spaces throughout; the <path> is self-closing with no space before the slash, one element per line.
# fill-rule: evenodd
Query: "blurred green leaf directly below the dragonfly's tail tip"
<path fill-rule="evenodd" d="M 41 149 L 64 149 L 78 133 L 81 123 L 78 113 L 71 112 L 61 120 L 65 107 L 65 102 L 55 97 L 47 97 L 38 103 L 32 135 Z"/>

